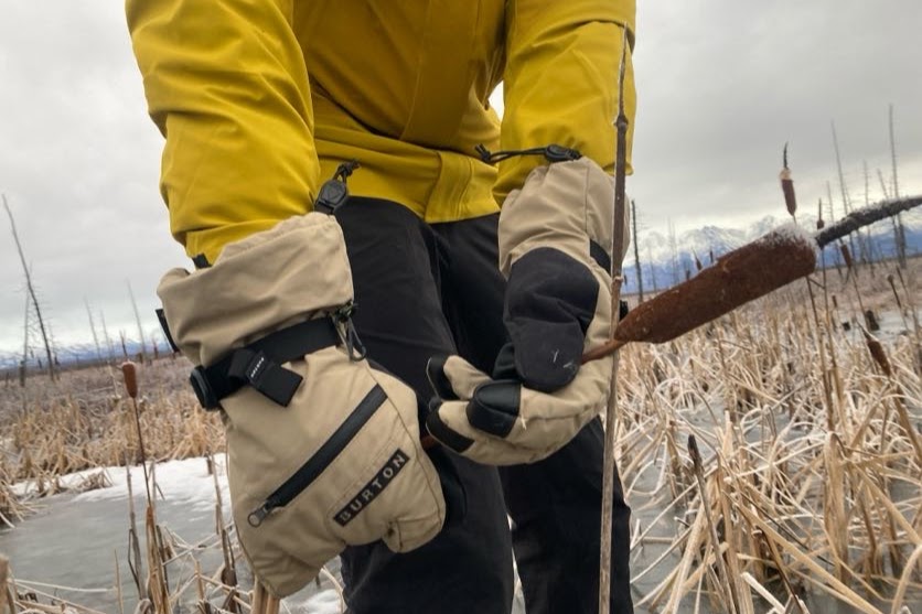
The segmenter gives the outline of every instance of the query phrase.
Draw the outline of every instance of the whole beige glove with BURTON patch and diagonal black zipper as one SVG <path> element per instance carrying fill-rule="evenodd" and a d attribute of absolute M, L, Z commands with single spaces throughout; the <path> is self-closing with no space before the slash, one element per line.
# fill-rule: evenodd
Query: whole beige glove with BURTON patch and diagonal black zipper
<path fill-rule="evenodd" d="M 352 345 L 352 274 L 332 217 L 230 244 L 212 268 L 168 272 L 158 293 L 182 353 L 208 367 L 194 379 L 226 414 L 240 543 L 275 595 L 346 546 L 383 539 L 403 552 L 439 532 L 446 502 L 416 395 Z"/>

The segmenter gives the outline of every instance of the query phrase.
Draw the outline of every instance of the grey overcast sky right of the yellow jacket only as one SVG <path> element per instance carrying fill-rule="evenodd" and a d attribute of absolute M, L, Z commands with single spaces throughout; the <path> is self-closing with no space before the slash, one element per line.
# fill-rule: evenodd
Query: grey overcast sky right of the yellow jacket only
<path fill-rule="evenodd" d="M 641 3 L 629 184 L 641 215 L 688 227 L 782 212 L 785 142 L 802 202 L 826 198 L 829 181 L 840 207 L 833 121 L 849 194 L 864 203 L 867 160 L 878 198 L 877 169 L 890 176 L 889 104 L 903 192 L 922 190 L 922 79 L 910 51 L 920 17 L 909 0 Z"/>

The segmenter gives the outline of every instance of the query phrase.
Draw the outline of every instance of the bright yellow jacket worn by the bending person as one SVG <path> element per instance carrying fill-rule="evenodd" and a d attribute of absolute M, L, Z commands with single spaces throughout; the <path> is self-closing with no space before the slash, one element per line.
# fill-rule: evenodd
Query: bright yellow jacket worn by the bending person
<path fill-rule="evenodd" d="M 613 171 L 634 0 L 127 0 L 127 17 L 167 138 L 161 193 L 190 256 L 214 261 L 225 244 L 310 211 L 351 159 L 362 164 L 352 194 L 430 223 L 498 211 L 544 163 L 497 170 L 480 143 L 559 143 Z M 500 82 L 502 125 L 487 103 Z"/>

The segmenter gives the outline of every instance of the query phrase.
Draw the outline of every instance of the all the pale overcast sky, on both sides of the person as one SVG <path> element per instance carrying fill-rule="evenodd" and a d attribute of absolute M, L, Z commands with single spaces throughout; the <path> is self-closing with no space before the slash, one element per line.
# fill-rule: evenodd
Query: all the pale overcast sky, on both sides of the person
<path fill-rule="evenodd" d="M 784 213 L 781 150 L 802 207 L 832 182 L 835 121 L 853 198 L 891 174 L 922 192 L 920 0 L 637 0 L 639 112 L 629 192 L 643 227 L 744 225 Z M 119 0 L 0 0 L 0 192 L 61 344 L 99 326 L 137 337 L 160 274 L 186 266 L 158 193 L 160 134 L 146 115 Z M 0 216 L 0 355 L 21 352 L 24 282 Z M 37 344 L 36 342 L 33 342 Z"/>

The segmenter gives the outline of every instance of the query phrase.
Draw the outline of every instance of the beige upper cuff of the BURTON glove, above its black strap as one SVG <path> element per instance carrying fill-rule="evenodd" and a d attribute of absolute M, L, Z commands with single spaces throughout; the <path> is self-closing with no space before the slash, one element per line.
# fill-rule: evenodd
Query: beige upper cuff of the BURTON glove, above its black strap
<path fill-rule="evenodd" d="M 227 245 L 211 268 L 172 269 L 157 293 L 173 338 L 199 365 L 353 299 L 342 230 L 319 213 Z"/>

